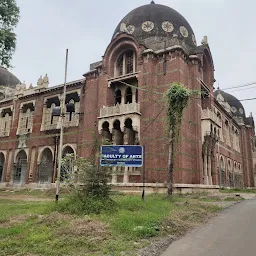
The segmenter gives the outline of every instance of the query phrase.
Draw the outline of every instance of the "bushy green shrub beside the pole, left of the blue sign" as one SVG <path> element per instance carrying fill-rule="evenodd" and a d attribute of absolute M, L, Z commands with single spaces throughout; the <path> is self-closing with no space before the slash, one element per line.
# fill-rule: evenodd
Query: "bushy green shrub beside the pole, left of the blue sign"
<path fill-rule="evenodd" d="M 70 163 L 73 168 L 70 168 Z M 74 155 L 67 155 L 62 160 L 62 169 L 65 170 L 65 182 L 71 189 L 71 196 L 59 203 L 59 211 L 80 215 L 115 209 L 115 203 L 110 199 L 108 167 L 101 167 L 96 161 L 86 158 L 75 159 Z"/>

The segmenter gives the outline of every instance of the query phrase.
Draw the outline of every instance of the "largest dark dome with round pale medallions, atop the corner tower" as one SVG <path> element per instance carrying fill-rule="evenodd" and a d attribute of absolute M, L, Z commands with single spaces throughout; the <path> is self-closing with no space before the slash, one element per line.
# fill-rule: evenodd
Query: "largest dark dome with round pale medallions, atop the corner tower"
<path fill-rule="evenodd" d="M 153 50 L 176 45 L 186 49 L 196 47 L 194 32 L 186 19 L 172 8 L 155 4 L 143 5 L 128 13 L 118 24 L 112 40 L 120 33 L 133 35 Z"/>

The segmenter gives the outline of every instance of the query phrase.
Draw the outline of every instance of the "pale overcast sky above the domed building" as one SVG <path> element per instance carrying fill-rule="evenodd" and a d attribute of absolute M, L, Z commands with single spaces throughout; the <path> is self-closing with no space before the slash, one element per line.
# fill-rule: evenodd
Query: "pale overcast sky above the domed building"
<path fill-rule="evenodd" d="M 101 60 L 119 21 L 151 0 L 17 0 L 20 22 L 12 72 L 27 84 L 48 74 L 50 84 L 64 80 L 65 49 L 69 48 L 68 81 L 82 78 L 89 64 Z M 256 82 L 256 1 L 155 0 L 180 12 L 201 43 L 208 36 L 215 87 Z M 248 88 L 248 87 L 245 87 Z M 232 92 L 238 99 L 256 97 L 252 89 Z M 231 91 L 229 91 L 231 93 Z M 256 117 L 256 100 L 245 101 L 246 114 Z"/>

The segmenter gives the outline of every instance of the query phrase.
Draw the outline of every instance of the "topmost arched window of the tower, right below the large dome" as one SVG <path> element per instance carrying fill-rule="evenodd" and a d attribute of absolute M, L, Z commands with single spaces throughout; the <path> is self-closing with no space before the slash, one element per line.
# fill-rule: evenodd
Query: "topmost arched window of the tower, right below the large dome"
<path fill-rule="evenodd" d="M 116 76 L 132 74 L 135 71 L 135 52 L 128 50 L 122 53 L 116 62 Z"/>

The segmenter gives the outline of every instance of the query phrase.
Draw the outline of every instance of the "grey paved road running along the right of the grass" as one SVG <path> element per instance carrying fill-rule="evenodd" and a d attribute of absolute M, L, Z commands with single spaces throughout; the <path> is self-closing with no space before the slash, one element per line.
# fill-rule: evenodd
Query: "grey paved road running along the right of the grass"
<path fill-rule="evenodd" d="M 162 256 L 256 256 L 256 199 L 224 210 L 171 244 Z"/>

